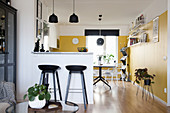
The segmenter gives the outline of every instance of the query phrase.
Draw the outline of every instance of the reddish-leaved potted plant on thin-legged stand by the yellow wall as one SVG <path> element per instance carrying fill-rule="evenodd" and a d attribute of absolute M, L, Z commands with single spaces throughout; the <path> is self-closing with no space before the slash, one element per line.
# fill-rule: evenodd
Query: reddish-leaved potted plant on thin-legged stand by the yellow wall
<path fill-rule="evenodd" d="M 137 84 L 140 84 L 141 80 L 144 80 L 144 85 L 151 85 L 151 83 L 153 84 L 154 81 L 152 81 L 155 77 L 155 74 L 150 75 L 148 74 L 148 69 L 144 68 L 144 69 L 136 69 L 135 70 L 135 76 L 136 79 L 134 81 L 134 83 L 136 82 Z"/>

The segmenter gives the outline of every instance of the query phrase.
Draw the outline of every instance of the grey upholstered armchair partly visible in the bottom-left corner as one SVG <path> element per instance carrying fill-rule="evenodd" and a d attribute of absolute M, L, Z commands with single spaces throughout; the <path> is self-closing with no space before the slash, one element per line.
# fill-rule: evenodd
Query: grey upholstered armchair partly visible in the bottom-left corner
<path fill-rule="evenodd" d="M 0 113 L 6 113 L 6 109 L 14 106 L 15 101 L 15 85 L 11 82 L 0 83 Z"/>

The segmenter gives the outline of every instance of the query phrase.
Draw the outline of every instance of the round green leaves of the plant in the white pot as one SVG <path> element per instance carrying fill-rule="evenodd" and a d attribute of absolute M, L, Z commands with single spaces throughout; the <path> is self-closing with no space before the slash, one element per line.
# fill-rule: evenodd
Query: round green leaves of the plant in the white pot
<path fill-rule="evenodd" d="M 51 95 L 47 91 L 47 87 L 44 85 L 37 85 L 35 84 L 34 86 L 28 88 L 27 94 L 24 95 L 24 100 L 28 96 L 29 101 L 34 101 L 35 97 L 38 96 L 39 100 L 50 100 Z"/>

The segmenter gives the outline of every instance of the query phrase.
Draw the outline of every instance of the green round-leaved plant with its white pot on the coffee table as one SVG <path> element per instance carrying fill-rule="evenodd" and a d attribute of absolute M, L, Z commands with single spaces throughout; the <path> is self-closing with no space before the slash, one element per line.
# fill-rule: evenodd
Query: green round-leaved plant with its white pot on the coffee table
<path fill-rule="evenodd" d="M 37 85 L 28 88 L 27 94 L 24 95 L 24 100 L 28 96 L 29 106 L 31 108 L 41 109 L 45 106 L 46 100 L 50 100 L 51 95 L 44 85 Z"/>

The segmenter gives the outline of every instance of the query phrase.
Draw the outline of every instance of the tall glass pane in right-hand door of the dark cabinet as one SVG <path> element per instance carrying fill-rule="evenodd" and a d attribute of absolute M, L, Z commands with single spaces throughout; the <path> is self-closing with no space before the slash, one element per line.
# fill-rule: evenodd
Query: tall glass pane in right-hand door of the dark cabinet
<path fill-rule="evenodd" d="M 14 62 L 14 15 L 8 13 L 8 63 Z"/>

